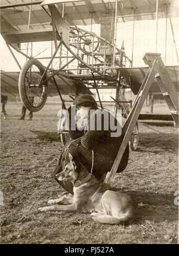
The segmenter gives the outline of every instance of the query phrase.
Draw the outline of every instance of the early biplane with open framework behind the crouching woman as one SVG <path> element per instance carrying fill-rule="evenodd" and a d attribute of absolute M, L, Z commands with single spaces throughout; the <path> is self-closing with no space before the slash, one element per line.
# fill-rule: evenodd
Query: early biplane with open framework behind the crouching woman
<path fill-rule="evenodd" d="M 91 93 L 95 89 L 103 108 L 99 89 L 116 89 L 115 114 L 119 107 L 128 117 L 131 101 L 121 89 L 131 89 L 137 95 L 149 67 L 135 68 L 133 55 L 125 54 L 124 44 L 116 45 L 117 23 L 136 20 L 156 20 L 156 51 L 158 45 L 158 19 L 178 17 L 179 5 L 175 0 L 45 0 L 1 1 L 1 35 L 16 61 L 20 72 L 2 72 L 1 92 L 16 95 L 30 111 L 39 111 L 47 96 Z M 80 28 L 80 25 L 100 24 L 100 36 Z M 132 48 L 134 46 L 134 29 Z M 172 29 L 172 23 L 171 23 Z M 174 37 L 174 33 L 172 31 Z M 50 57 L 35 53 L 33 43 L 50 41 Z M 33 42 L 33 43 L 32 43 Z M 175 42 L 175 38 L 174 38 Z M 22 47 L 24 44 L 26 49 Z M 166 49 L 165 41 L 165 49 Z M 23 66 L 14 50 L 26 58 Z M 177 48 L 175 48 L 177 54 Z M 178 57 L 178 54 L 177 54 Z M 48 60 L 47 65 L 44 59 Z M 54 65 L 54 62 L 57 65 Z M 166 67 L 172 83 L 178 90 L 179 66 Z M 18 83 L 18 89 L 17 89 Z M 149 92 L 161 93 L 153 77 Z M 132 133 L 132 149 L 137 148 L 138 125 Z"/>

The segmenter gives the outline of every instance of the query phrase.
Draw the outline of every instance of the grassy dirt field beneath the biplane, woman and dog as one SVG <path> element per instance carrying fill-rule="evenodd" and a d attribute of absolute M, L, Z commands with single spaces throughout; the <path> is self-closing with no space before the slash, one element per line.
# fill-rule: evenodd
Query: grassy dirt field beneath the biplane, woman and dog
<path fill-rule="evenodd" d="M 90 214 L 38 212 L 64 191 L 51 178 L 63 150 L 58 108 L 48 103 L 32 121 L 22 121 L 17 120 L 20 103 L 8 103 L 8 120 L 1 117 L 1 243 L 177 243 L 178 135 L 171 123 L 140 122 L 138 150 L 130 152 L 126 170 L 112 184 L 137 200 L 133 224 L 103 225 Z"/>

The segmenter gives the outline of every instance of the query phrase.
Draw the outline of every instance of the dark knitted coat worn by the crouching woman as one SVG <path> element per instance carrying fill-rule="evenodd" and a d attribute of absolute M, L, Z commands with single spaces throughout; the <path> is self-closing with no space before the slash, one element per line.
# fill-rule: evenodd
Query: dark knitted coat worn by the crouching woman
<path fill-rule="evenodd" d="M 92 167 L 92 150 L 94 151 L 94 164 L 92 168 L 92 174 L 100 179 L 104 176 L 104 173 L 107 173 L 112 168 L 112 165 L 118 154 L 119 147 L 122 142 L 122 136 L 112 137 L 111 133 L 114 132 L 110 130 L 105 130 L 104 126 L 104 115 L 101 118 L 101 129 L 97 130 L 97 117 L 101 115 L 101 110 L 96 109 L 95 112 L 89 117 L 88 124 L 93 124 L 94 130 L 71 130 L 69 131 L 70 137 L 72 140 L 77 139 L 72 144 L 72 140 L 67 142 L 66 147 L 69 146 L 69 152 L 72 156 L 84 164 L 87 167 L 88 171 L 91 173 Z M 115 119 L 115 124 L 117 120 Z M 79 138 L 79 139 L 78 139 Z M 59 166 L 54 173 L 58 173 L 63 169 L 65 165 L 64 159 L 65 155 L 63 154 L 63 159 L 59 161 Z M 62 156 L 61 156 L 62 157 Z M 124 156 L 122 157 L 121 163 L 119 164 L 118 172 L 122 172 L 127 163 L 129 157 L 129 147 L 126 147 Z"/>

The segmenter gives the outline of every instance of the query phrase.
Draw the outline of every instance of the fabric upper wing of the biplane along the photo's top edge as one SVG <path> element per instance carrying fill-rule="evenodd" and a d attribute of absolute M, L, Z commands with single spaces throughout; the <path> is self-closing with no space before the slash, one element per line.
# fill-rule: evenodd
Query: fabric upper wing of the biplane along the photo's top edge
<path fill-rule="evenodd" d="M 40 5 L 42 2 L 43 1 L 18 0 L 17 2 L 16 0 L 1 0 L 1 15 L 18 31 L 25 30 L 27 29 L 26 25 L 29 20 L 29 6 L 32 5 L 30 29 L 45 30 L 51 26 L 50 17 Z M 64 6 L 64 19 L 66 19 L 70 25 L 91 25 L 91 22 L 92 24 L 100 24 L 101 17 L 112 17 L 113 11 L 115 10 L 115 0 L 44 1 L 44 4 L 50 3 L 56 3 L 55 6 L 60 13 L 63 12 Z M 27 6 L 27 4 L 29 4 L 29 6 Z M 167 16 L 178 17 L 178 0 L 159 0 L 158 19 L 166 17 L 166 4 L 168 4 Z M 48 10 L 47 5 L 45 5 L 45 8 Z M 155 19 L 156 0 L 118 1 L 118 22 L 133 20 L 134 10 L 135 20 Z"/>

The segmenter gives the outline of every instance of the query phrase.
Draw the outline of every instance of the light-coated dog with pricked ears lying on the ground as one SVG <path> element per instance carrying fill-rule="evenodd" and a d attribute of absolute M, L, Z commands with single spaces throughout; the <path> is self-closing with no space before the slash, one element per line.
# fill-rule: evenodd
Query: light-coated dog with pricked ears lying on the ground
<path fill-rule="evenodd" d="M 124 191 L 110 190 L 109 185 L 99 182 L 83 164 L 75 161 L 70 153 L 68 156 L 69 163 L 56 176 L 59 181 L 73 183 L 73 196 L 49 200 L 48 203 L 51 206 L 38 208 L 38 210 L 41 212 L 92 212 L 92 219 L 98 223 L 131 223 L 137 209 L 132 197 Z"/>

